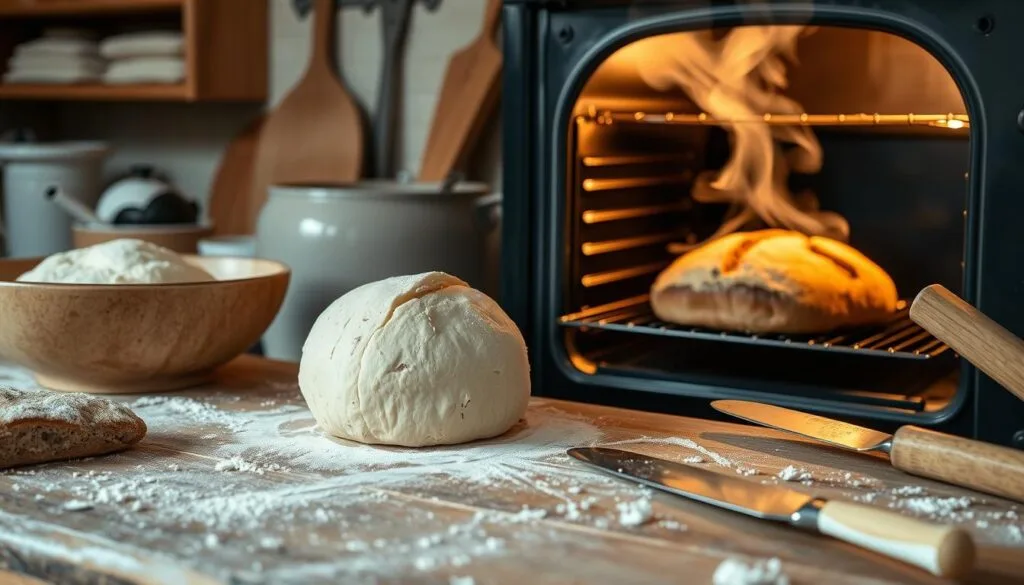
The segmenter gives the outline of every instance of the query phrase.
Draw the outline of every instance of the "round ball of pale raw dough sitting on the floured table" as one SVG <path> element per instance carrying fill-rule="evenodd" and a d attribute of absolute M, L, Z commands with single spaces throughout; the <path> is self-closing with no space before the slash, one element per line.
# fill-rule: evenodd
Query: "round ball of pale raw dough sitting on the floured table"
<path fill-rule="evenodd" d="M 529 400 L 518 328 L 443 273 L 394 277 L 334 301 L 302 348 L 299 387 L 326 432 L 426 447 L 496 436 Z"/>

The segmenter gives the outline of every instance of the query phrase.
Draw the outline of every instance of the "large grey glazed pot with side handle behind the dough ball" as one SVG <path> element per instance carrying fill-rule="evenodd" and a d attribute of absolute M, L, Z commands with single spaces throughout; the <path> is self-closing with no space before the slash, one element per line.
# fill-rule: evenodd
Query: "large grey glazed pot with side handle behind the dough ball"
<path fill-rule="evenodd" d="M 487 294 L 486 212 L 501 202 L 484 183 L 451 193 L 437 183 L 368 180 L 345 186 L 272 186 L 256 227 L 256 255 L 284 262 L 292 280 L 263 336 L 268 358 L 298 361 L 319 314 L 359 285 L 398 275 L 442 270 Z M 490 236 L 492 238 L 488 238 Z"/>

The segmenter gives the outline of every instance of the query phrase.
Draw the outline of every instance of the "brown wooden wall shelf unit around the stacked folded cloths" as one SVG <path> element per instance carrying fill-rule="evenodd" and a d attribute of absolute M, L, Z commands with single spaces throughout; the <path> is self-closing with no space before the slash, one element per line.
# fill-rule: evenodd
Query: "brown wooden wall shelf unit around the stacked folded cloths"
<path fill-rule="evenodd" d="M 94 16 L 88 20 L 79 20 Z M 266 0 L 0 0 L 0 71 L 14 46 L 46 27 L 74 26 L 102 37 L 126 25 L 179 28 L 185 79 L 175 85 L 3 84 L 0 100 L 265 101 Z"/>

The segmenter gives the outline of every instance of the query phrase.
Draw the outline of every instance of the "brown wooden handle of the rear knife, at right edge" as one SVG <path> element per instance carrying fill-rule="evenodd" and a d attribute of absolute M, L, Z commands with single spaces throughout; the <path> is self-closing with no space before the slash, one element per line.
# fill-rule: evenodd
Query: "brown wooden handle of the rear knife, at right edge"
<path fill-rule="evenodd" d="M 907 473 L 1024 502 L 1024 451 L 907 425 L 889 458 Z"/>

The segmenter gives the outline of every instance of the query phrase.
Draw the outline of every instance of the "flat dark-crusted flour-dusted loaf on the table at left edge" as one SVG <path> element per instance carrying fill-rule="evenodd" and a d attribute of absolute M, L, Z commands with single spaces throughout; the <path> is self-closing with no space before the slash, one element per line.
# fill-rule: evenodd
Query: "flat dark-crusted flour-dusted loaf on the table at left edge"
<path fill-rule="evenodd" d="M 128 407 L 106 399 L 0 386 L 0 468 L 120 451 L 145 431 Z"/>

